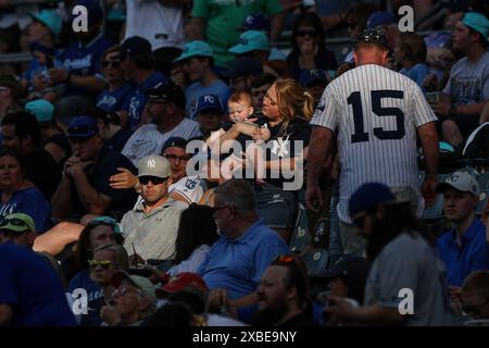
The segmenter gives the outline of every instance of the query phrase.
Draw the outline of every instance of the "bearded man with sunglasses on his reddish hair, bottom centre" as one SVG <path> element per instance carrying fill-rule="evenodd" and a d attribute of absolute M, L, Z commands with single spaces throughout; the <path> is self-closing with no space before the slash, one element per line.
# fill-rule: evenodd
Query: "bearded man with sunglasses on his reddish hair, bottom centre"
<path fill-rule="evenodd" d="M 314 325 L 306 274 L 299 256 L 278 257 L 263 273 L 256 289 L 259 311 L 253 325 Z"/>

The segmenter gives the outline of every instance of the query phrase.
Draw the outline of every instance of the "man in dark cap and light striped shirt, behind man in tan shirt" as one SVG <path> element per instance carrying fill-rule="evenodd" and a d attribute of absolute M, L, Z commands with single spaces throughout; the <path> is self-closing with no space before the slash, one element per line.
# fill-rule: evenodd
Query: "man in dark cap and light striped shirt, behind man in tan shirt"
<path fill-rule="evenodd" d="M 190 139 L 201 135 L 199 124 L 185 117 L 185 96 L 178 86 L 161 83 L 147 95 L 146 108 L 152 123 L 140 126 L 122 151 L 135 165 L 146 156 L 160 153 L 172 137 Z"/>

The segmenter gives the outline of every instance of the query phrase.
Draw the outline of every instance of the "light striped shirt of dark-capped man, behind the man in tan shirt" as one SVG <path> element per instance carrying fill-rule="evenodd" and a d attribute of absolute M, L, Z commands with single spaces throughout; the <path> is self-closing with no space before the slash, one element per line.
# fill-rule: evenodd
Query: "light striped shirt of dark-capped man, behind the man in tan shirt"
<path fill-rule="evenodd" d="M 131 135 L 122 153 L 138 166 L 139 160 L 143 157 L 160 154 L 161 148 L 171 137 L 181 137 L 188 140 L 198 136 L 201 136 L 199 124 L 188 119 L 184 119 L 175 128 L 166 133 L 158 130 L 155 124 L 146 124 Z"/>

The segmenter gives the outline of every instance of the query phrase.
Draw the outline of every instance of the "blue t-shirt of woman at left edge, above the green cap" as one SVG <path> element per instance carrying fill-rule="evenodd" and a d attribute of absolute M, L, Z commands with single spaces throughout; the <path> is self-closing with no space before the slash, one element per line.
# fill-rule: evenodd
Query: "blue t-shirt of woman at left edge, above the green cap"
<path fill-rule="evenodd" d="M 15 191 L 7 203 L 0 204 L 0 221 L 12 213 L 25 213 L 33 217 L 37 233 L 51 228 L 51 204 L 37 187 Z"/>

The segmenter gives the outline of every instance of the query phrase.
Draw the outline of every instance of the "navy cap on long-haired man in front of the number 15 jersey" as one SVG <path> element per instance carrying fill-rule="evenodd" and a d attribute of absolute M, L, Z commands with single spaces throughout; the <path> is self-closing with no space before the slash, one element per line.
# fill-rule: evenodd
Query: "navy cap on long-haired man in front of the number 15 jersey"
<path fill-rule="evenodd" d="M 394 200 L 389 187 L 380 183 L 363 184 L 351 195 L 348 202 L 350 216 L 354 216 L 361 211 L 366 211 L 377 204 L 387 203 Z"/>

